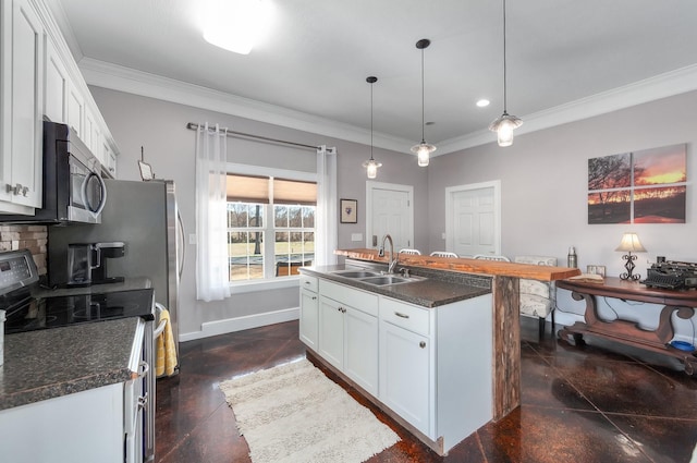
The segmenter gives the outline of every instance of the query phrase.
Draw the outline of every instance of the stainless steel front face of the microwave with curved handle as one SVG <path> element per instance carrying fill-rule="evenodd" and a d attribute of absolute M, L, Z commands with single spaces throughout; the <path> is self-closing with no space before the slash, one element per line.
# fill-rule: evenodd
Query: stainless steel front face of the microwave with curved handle
<path fill-rule="evenodd" d="M 68 220 L 100 223 L 107 203 L 107 186 L 99 172 L 89 169 L 72 154 L 69 157 L 70 195 Z"/>

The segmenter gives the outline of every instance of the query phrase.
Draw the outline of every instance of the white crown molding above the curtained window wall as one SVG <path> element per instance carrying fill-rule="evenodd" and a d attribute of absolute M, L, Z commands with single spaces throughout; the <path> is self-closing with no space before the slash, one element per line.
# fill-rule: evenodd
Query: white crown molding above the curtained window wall
<path fill-rule="evenodd" d="M 370 131 L 301 111 L 243 98 L 130 68 L 83 58 L 78 66 L 89 85 L 193 106 L 254 121 L 370 145 Z M 408 153 L 411 141 L 375 133 L 374 146 Z"/>

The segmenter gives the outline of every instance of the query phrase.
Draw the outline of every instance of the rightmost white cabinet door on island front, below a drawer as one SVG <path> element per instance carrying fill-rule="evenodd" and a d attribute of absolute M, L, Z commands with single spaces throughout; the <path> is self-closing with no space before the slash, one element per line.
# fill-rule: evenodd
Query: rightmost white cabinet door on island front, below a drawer
<path fill-rule="evenodd" d="M 430 340 L 380 321 L 379 399 L 425 435 L 431 436 Z"/>

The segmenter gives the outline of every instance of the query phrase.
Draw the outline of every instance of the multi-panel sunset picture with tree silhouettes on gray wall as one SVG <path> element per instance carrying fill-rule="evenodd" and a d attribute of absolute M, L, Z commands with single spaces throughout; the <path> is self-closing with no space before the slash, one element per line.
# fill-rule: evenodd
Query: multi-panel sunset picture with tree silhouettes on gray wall
<path fill-rule="evenodd" d="M 686 145 L 588 159 L 588 223 L 685 223 Z"/>

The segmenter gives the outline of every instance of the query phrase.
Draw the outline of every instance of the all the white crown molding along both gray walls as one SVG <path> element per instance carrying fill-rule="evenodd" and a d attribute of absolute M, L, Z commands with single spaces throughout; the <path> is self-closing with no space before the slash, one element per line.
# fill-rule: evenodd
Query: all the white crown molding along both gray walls
<path fill-rule="evenodd" d="M 193 106 L 364 145 L 370 144 L 370 132 L 365 129 L 288 108 L 90 58 L 83 58 L 78 66 L 89 85 Z M 522 119 L 525 123 L 516 130 L 516 135 L 550 129 L 693 90 L 697 90 L 697 64 L 523 115 Z M 375 147 L 412 156 L 409 148 L 413 141 L 381 133 L 375 133 L 372 138 Z M 494 142 L 496 136 L 487 129 L 482 129 L 437 143 L 438 153 L 432 156 L 443 156 Z"/>

